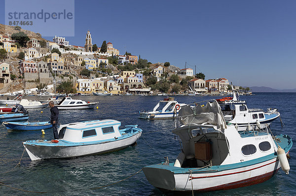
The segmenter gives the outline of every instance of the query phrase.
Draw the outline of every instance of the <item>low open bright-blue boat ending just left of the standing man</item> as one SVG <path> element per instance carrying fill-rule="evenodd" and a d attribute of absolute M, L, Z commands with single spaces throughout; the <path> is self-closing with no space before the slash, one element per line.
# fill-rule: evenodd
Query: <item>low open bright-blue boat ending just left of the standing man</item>
<path fill-rule="evenodd" d="M 22 131 L 34 131 L 41 129 L 48 129 L 52 127 L 48 121 L 46 122 L 3 122 L 3 125 L 6 126 L 7 129 L 12 130 L 22 130 Z"/>

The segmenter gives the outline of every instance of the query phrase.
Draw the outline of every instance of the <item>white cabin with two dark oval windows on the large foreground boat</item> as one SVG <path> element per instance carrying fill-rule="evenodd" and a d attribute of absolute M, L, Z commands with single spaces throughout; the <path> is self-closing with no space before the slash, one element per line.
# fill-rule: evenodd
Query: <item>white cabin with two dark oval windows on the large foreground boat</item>
<path fill-rule="evenodd" d="M 174 166 L 203 167 L 240 163 L 273 154 L 276 148 L 272 137 L 264 129 L 253 127 L 237 131 L 232 124 L 220 131 L 211 124 L 186 125 L 173 131 L 182 141 L 182 152 Z"/>

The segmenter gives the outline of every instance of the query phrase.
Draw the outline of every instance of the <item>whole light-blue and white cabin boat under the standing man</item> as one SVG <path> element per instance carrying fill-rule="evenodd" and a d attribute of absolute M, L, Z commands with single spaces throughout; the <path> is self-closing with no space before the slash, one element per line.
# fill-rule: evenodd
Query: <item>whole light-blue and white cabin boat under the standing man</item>
<path fill-rule="evenodd" d="M 138 125 L 119 129 L 117 120 L 91 120 L 60 125 L 58 143 L 30 140 L 23 143 L 31 160 L 69 158 L 118 151 L 134 144 L 142 134 Z"/>

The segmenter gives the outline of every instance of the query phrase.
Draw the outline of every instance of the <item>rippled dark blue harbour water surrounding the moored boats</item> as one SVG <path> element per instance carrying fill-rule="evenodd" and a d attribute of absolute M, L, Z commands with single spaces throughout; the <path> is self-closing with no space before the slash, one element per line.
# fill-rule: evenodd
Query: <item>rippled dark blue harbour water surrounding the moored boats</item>
<path fill-rule="evenodd" d="M 28 99 L 38 97 L 28 96 Z M 97 156 L 78 157 L 72 159 L 48 159 L 31 161 L 25 152 L 20 167 L 12 169 L 20 160 L 24 147 L 22 142 L 33 139 L 53 139 L 52 129 L 41 131 L 10 131 L 0 126 L 0 182 L 18 189 L 34 192 L 46 192 L 43 195 L 150 195 L 160 196 L 162 192 L 151 186 L 141 171 L 118 184 L 101 189 L 92 189 L 115 183 L 142 167 L 164 161 L 169 157 L 175 161 L 180 152 L 177 139 L 172 134 L 174 120 L 145 120 L 138 118 L 138 111 L 152 110 L 164 96 L 80 96 L 86 101 L 96 101 L 99 109 L 60 111 L 60 123 L 69 123 L 93 119 L 116 119 L 124 125 L 138 124 L 143 129 L 137 145 L 124 150 Z M 217 99 L 211 96 L 176 96 L 179 103 L 193 103 L 205 99 Z M 288 134 L 296 138 L 296 93 L 257 93 L 255 96 L 241 96 L 249 108 L 277 108 L 285 127 L 280 120 L 272 123 L 274 134 Z M 30 110 L 29 121 L 49 120 L 48 108 Z M 227 191 L 209 192 L 202 196 L 266 196 L 296 195 L 296 150 L 290 151 L 290 173 L 282 170 L 270 180 L 250 187 Z M 0 186 L 0 195 L 32 195 L 23 191 Z M 190 194 L 189 194 L 190 195 Z"/>

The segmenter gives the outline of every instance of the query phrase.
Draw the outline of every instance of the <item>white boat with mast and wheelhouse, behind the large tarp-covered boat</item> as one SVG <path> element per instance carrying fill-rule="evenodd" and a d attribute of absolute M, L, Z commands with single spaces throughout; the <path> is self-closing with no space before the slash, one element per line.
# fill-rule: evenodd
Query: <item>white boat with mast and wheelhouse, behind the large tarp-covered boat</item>
<path fill-rule="evenodd" d="M 264 112 L 262 109 L 249 109 L 246 101 L 240 100 L 240 97 L 230 85 L 233 97 L 225 97 L 216 99 L 222 108 L 224 119 L 237 125 L 248 125 L 257 123 L 271 123 L 280 117 L 280 113 L 276 110 L 268 110 Z"/>

